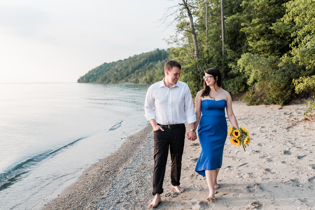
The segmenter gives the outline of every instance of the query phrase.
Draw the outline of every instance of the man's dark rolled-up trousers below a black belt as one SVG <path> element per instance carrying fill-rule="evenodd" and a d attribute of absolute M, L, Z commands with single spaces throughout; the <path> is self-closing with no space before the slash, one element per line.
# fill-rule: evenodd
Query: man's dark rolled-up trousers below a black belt
<path fill-rule="evenodd" d="M 171 184 L 180 185 L 181 158 L 184 151 L 186 127 L 163 128 L 154 131 L 153 195 L 163 193 L 163 180 L 168 153 L 171 155 Z"/>

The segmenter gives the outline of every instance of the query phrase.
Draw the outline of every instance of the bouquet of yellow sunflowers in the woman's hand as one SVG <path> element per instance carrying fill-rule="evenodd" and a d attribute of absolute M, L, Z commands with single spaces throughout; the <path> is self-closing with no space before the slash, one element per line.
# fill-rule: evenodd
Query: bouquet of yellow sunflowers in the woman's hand
<path fill-rule="evenodd" d="M 249 132 L 244 128 L 243 126 L 241 128 L 236 128 L 231 126 L 229 132 L 227 133 L 228 136 L 230 136 L 231 140 L 230 142 L 234 146 L 243 146 L 243 149 L 245 151 L 246 145 L 249 145 L 250 142 L 250 136 L 248 135 Z"/>

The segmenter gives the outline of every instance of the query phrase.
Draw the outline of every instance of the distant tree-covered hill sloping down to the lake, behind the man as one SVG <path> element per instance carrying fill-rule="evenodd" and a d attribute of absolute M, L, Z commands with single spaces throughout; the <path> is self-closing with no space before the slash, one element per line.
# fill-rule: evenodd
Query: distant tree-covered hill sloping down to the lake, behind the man
<path fill-rule="evenodd" d="M 103 63 L 80 77 L 78 82 L 152 83 L 156 77 L 156 71 L 157 77 L 161 74 L 158 71 L 161 68 L 163 68 L 164 74 L 164 64 L 168 55 L 165 50 L 157 49 L 140 55 L 134 55 L 124 60 Z"/>

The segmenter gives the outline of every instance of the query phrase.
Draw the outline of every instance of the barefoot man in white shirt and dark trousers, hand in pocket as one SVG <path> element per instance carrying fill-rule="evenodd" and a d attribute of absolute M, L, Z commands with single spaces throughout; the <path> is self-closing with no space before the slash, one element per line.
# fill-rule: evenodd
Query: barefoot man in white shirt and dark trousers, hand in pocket
<path fill-rule="evenodd" d="M 181 66 L 177 61 L 167 61 L 164 66 L 165 77 L 162 81 L 151 85 L 146 93 L 145 116 L 154 131 L 154 199 L 148 207 L 155 208 L 162 201 L 163 179 L 168 152 L 171 155 L 171 184 L 182 193 L 180 187 L 181 159 L 184 150 L 185 122 L 189 124 L 187 134 L 189 140 L 196 140 L 194 128 L 196 121 L 192 95 L 186 83 L 178 81 Z M 153 111 L 155 106 L 156 114 Z"/>

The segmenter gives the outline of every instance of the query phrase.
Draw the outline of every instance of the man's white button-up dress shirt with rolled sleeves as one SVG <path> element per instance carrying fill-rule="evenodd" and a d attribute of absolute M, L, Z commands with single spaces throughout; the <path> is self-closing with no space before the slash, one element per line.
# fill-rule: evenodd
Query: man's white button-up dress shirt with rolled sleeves
<path fill-rule="evenodd" d="M 165 77 L 164 77 L 165 79 Z M 151 85 L 146 92 L 144 104 L 147 120 L 155 119 L 161 125 L 188 124 L 196 122 L 192 95 L 185 82 L 177 81 L 168 88 L 164 79 Z M 154 114 L 153 105 L 156 109 Z"/>

